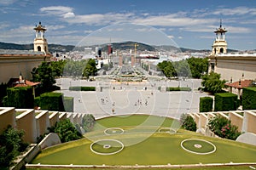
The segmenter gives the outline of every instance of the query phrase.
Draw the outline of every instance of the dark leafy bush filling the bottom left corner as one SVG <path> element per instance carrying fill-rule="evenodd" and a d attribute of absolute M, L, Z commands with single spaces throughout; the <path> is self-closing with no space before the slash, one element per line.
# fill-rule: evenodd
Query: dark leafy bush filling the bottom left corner
<path fill-rule="evenodd" d="M 15 157 L 26 149 L 28 144 L 23 141 L 23 135 L 23 131 L 15 130 L 11 126 L 0 135 L 0 169 L 10 167 Z"/>

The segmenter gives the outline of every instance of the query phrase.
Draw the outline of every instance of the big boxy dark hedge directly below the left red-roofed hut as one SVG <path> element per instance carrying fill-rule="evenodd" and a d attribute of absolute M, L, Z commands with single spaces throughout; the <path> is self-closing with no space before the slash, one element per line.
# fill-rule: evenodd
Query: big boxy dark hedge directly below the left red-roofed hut
<path fill-rule="evenodd" d="M 32 87 L 7 88 L 7 96 L 3 101 L 3 106 L 17 109 L 33 109 L 34 96 Z"/>

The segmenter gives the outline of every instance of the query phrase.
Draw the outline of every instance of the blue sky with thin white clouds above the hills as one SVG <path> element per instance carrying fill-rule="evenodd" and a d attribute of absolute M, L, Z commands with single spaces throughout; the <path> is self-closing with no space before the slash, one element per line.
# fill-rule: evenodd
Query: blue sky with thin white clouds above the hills
<path fill-rule="evenodd" d="M 255 0 L 0 0 L 0 42 L 32 43 L 40 21 L 48 43 L 170 40 L 211 49 L 220 20 L 228 48 L 256 49 Z"/>

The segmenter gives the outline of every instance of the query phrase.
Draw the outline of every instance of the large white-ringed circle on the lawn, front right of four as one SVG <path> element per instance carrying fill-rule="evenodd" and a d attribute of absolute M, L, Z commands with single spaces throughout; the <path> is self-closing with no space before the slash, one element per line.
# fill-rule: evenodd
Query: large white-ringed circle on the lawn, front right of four
<path fill-rule="evenodd" d="M 180 145 L 183 150 L 199 155 L 212 154 L 216 150 L 214 144 L 203 139 L 184 139 Z"/>

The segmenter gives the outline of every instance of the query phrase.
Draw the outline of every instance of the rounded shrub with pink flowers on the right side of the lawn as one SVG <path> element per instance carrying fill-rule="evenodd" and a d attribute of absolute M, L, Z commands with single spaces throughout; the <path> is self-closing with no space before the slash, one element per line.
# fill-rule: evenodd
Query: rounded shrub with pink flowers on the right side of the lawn
<path fill-rule="evenodd" d="M 238 132 L 235 125 L 232 125 L 230 120 L 224 116 L 215 116 L 208 122 L 208 127 L 213 133 L 221 138 L 236 140 L 241 134 Z"/>

